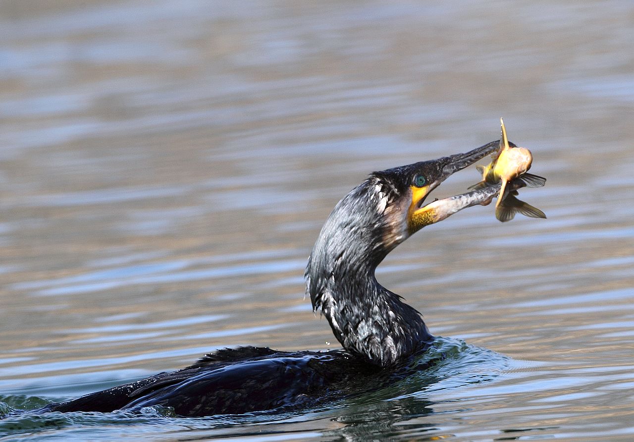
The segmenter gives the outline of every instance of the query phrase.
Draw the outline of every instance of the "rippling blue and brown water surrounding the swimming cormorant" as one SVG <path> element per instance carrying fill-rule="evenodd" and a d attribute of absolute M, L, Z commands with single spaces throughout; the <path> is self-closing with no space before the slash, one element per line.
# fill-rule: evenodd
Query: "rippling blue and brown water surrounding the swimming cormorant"
<path fill-rule="evenodd" d="M 16 417 L 4 439 L 630 440 L 633 14 L 625 1 L 4 2 L 6 406 L 224 346 L 335 348 L 302 282 L 333 205 L 370 171 L 495 140 L 500 116 L 548 178 L 522 193 L 547 220 L 474 207 L 380 267 L 434 334 L 468 343 L 434 382 L 277 415 Z"/>

